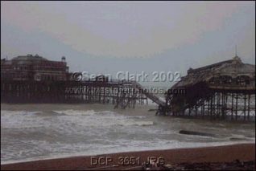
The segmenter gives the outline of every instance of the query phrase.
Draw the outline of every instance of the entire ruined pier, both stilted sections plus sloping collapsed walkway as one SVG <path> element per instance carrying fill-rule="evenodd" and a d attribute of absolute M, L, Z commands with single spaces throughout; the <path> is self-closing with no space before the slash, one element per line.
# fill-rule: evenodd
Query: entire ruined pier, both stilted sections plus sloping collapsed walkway
<path fill-rule="evenodd" d="M 135 81 L 104 75 L 77 80 L 65 57 L 50 61 L 39 55 L 1 59 L 2 103 L 100 103 L 134 108 L 150 99 L 157 113 L 221 120 L 255 120 L 255 65 L 236 55 L 220 63 L 190 68 L 165 93 L 165 101 Z M 76 73 L 77 76 L 77 73 Z"/>

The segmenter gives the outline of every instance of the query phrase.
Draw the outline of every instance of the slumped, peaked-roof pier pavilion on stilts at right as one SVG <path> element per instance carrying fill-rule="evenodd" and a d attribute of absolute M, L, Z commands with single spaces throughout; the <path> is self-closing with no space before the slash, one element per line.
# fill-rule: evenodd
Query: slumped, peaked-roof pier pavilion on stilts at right
<path fill-rule="evenodd" d="M 166 92 L 166 104 L 159 108 L 172 116 L 255 120 L 255 65 L 242 63 L 236 55 L 190 68 L 188 75 Z"/>

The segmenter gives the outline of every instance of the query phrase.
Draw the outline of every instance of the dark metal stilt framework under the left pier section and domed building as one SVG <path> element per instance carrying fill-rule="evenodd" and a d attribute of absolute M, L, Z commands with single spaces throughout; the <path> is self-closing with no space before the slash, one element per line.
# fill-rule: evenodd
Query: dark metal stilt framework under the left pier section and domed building
<path fill-rule="evenodd" d="M 134 108 L 147 103 L 138 83 L 125 81 L 2 81 L 4 103 L 99 103 Z"/>

